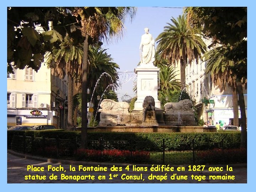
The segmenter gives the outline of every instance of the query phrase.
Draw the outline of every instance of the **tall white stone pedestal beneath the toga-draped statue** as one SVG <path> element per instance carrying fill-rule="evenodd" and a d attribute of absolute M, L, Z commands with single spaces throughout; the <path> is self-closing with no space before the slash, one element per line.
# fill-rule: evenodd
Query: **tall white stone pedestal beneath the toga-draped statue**
<path fill-rule="evenodd" d="M 146 96 L 152 96 L 155 100 L 155 107 L 160 108 L 158 100 L 158 73 L 160 68 L 153 64 L 141 64 L 134 69 L 137 74 L 137 101 L 134 103 L 134 110 L 143 110 L 142 103 Z"/>

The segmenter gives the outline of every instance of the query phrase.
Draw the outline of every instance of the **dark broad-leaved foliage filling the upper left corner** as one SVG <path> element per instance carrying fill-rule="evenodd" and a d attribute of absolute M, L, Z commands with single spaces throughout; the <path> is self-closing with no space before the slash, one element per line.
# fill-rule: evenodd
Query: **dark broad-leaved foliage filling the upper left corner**
<path fill-rule="evenodd" d="M 50 31 L 49 21 L 54 23 Z M 75 22 L 62 7 L 7 7 L 7 71 L 13 73 L 13 65 L 37 71 L 45 53 L 62 41 Z M 76 36 L 82 40 L 81 35 Z"/>

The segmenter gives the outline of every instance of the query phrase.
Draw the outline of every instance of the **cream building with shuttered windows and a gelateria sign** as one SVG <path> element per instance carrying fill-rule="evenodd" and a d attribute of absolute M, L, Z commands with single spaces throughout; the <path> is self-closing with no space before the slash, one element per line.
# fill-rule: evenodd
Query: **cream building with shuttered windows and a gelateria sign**
<path fill-rule="evenodd" d="M 14 72 L 7 73 L 7 126 L 49 124 L 64 128 L 66 78 L 52 75 L 46 65 L 38 72 L 32 68 Z"/>

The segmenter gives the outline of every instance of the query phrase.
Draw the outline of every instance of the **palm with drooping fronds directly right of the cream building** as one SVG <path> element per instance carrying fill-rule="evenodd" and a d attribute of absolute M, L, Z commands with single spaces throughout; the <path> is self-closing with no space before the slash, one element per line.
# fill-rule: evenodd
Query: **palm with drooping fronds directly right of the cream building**
<path fill-rule="evenodd" d="M 74 127 L 74 110 L 73 110 L 73 86 L 74 78 L 81 73 L 82 65 L 82 46 L 73 45 L 72 39 L 66 34 L 63 42 L 59 47 L 54 47 L 52 53 L 46 54 L 46 63 L 60 78 L 68 75 L 68 127 Z"/>

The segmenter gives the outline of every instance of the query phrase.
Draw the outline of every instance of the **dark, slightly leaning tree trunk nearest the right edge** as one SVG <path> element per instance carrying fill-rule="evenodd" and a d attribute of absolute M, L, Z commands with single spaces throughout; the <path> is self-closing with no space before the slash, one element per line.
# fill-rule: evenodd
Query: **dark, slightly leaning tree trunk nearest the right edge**
<path fill-rule="evenodd" d="M 247 143 L 247 126 L 246 126 L 246 113 L 245 113 L 245 102 L 244 102 L 244 92 L 242 90 L 241 81 L 236 82 L 236 87 L 239 96 L 239 105 L 241 113 L 241 148 L 246 147 Z"/>

